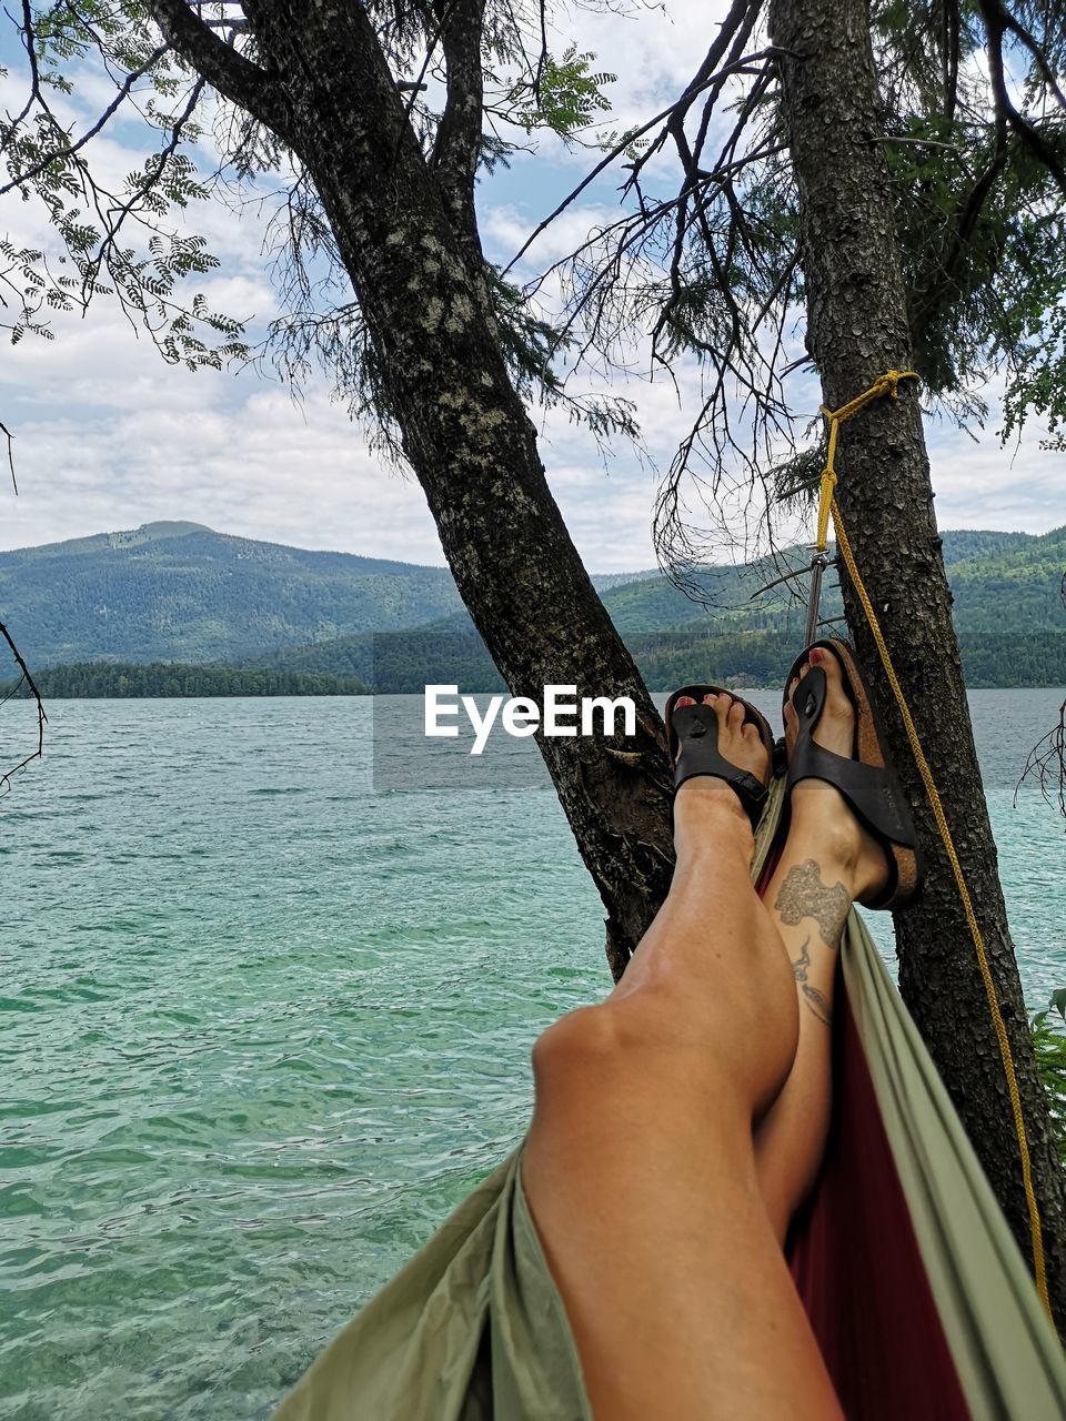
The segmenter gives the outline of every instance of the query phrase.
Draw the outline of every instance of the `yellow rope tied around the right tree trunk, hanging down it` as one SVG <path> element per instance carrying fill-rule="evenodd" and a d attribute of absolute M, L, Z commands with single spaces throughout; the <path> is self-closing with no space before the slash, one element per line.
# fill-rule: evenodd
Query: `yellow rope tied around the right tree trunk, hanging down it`
<path fill-rule="evenodd" d="M 976 912 L 974 911 L 974 902 L 969 897 L 969 888 L 967 887 L 967 880 L 962 872 L 962 865 L 959 864 L 958 854 L 955 851 L 955 841 L 951 837 L 951 828 L 948 827 L 948 818 L 944 813 L 944 804 L 941 803 L 940 791 L 932 779 L 932 772 L 930 770 L 930 763 L 925 759 L 925 752 L 921 747 L 921 740 L 918 739 L 918 732 L 914 726 L 914 719 L 911 716 L 910 706 L 907 705 L 907 698 L 903 693 L 903 688 L 895 675 L 895 668 L 893 666 L 893 658 L 888 654 L 888 647 L 881 631 L 881 625 L 877 621 L 877 612 L 873 608 L 870 595 L 866 590 L 863 578 L 856 566 L 854 553 L 851 551 L 851 544 L 849 543 L 847 533 L 844 530 L 843 519 L 840 517 L 840 509 L 834 496 L 834 487 L 837 482 L 834 460 L 837 448 L 837 431 L 840 425 L 850 419 L 851 415 L 857 414 L 873 399 L 878 399 L 881 395 L 891 395 L 893 399 L 897 398 L 898 384 L 901 379 L 917 379 L 918 377 L 914 371 L 897 371 L 890 369 L 878 381 L 876 381 L 870 389 L 864 391 L 856 399 L 843 405 L 837 411 L 830 411 L 823 406 L 822 414 L 829 419 L 829 453 L 826 458 L 826 468 L 822 473 L 822 504 L 819 507 L 819 551 L 826 550 L 826 536 L 829 530 L 829 516 L 833 514 L 833 529 L 836 531 L 837 547 L 840 549 L 840 556 L 844 560 L 844 567 L 847 568 L 847 576 L 851 578 L 851 585 L 856 590 L 856 595 L 863 607 L 866 620 L 873 632 L 874 642 L 877 644 L 877 651 L 881 658 L 881 665 L 888 676 L 888 684 L 893 688 L 893 695 L 895 696 L 895 703 L 900 708 L 900 715 L 903 716 L 903 723 L 907 730 L 907 739 L 911 745 L 911 753 L 914 755 L 914 763 L 918 767 L 918 774 L 925 786 L 925 793 L 930 797 L 930 804 L 932 806 L 932 814 L 937 820 L 937 828 L 940 830 L 940 837 L 944 843 L 948 860 L 951 861 L 951 871 L 955 875 L 955 887 L 958 888 L 959 899 L 962 901 L 962 911 L 967 915 L 967 924 L 969 926 L 969 934 L 974 939 L 974 951 L 976 952 L 978 966 L 981 969 L 981 980 L 985 985 L 985 996 L 988 998 L 988 1009 L 992 1017 L 992 1027 L 995 1029 L 996 1042 L 999 1043 L 999 1056 L 1003 1061 L 1003 1074 L 1006 1076 L 1006 1090 L 1011 1097 L 1011 1110 L 1015 1118 L 1015 1133 L 1018 1135 L 1018 1152 L 1022 1161 L 1022 1185 L 1025 1188 L 1025 1202 L 1029 1211 L 1029 1238 L 1032 1242 L 1033 1253 L 1033 1276 L 1036 1280 L 1036 1292 L 1040 1295 L 1040 1302 L 1048 1310 L 1048 1316 L 1053 1319 L 1052 1304 L 1048 1296 L 1048 1273 L 1043 1259 L 1043 1232 L 1040 1226 L 1040 1209 L 1036 1202 L 1036 1191 L 1033 1189 L 1033 1175 L 1032 1164 L 1029 1158 L 1029 1140 L 1025 1130 L 1025 1115 L 1022 1113 L 1022 1097 L 1018 1090 L 1018 1076 L 1015 1073 L 1013 1054 L 1011 1052 L 1011 1042 L 1006 1034 L 1006 1026 L 1003 1023 L 1003 1013 L 999 1007 L 999 998 L 996 996 L 995 980 L 992 979 L 992 968 L 988 962 L 988 952 L 985 951 L 985 939 L 981 932 L 981 925 L 976 919 Z"/>

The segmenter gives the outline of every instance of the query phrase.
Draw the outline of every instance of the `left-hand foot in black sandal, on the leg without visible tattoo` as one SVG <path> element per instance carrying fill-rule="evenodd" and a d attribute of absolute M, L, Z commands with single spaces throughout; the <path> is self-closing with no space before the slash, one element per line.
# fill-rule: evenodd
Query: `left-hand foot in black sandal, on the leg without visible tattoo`
<path fill-rule="evenodd" d="M 679 696 L 677 708 L 694 706 L 691 696 Z M 748 770 L 762 784 L 770 777 L 770 756 L 763 745 L 759 728 L 745 723 L 743 702 L 731 695 L 705 695 L 705 706 L 712 706 L 718 718 L 718 750 L 741 770 Z M 684 764 L 684 746 L 679 763 Z M 674 847 L 678 857 L 692 848 L 714 847 L 721 841 L 722 821 L 736 820 L 742 830 L 748 858 L 750 860 L 755 836 L 748 814 L 736 793 L 725 780 L 711 774 L 698 774 L 678 789 L 674 799 Z"/>

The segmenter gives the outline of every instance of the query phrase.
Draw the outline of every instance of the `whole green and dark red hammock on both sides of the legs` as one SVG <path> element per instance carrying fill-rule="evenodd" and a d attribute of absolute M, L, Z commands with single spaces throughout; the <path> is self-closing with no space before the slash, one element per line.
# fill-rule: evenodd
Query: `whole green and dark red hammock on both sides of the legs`
<path fill-rule="evenodd" d="M 772 789 L 756 877 L 780 817 Z M 849 1421 L 1062 1421 L 1066 1358 L 863 919 L 841 944 L 834 1118 L 790 1263 Z M 274 1421 L 593 1421 L 520 1148 Z"/>

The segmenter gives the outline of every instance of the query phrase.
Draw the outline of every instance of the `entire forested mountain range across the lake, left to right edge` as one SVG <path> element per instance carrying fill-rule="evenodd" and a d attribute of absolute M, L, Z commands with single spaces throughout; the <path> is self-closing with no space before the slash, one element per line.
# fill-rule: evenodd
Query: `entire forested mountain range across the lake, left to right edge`
<path fill-rule="evenodd" d="M 1066 679 L 1066 668 L 1056 669 L 1057 638 L 1011 652 L 1011 634 L 1066 632 L 1066 527 L 1043 536 L 948 531 L 944 557 L 968 666 L 981 668 L 982 684 L 995 678 L 998 662 L 974 638 L 991 634 L 1001 638 L 996 657 L 1018 661 L 1018 675 Z M 793 549 L 783 558 L 804 590 L 806 553 Z M 694 638 L 721 662 L 722 676 L 773 679 L 803 627 L 786 588 L 759 593 L 780 571 L 782 560 L 769 558 L 694 570 L 689 581 L 709 605 L 654 571 L 594 581 L 655 684 L 674 674 Z M 833 580 L 826 580 L 826 618 L 840 612 Z M 490 674 L 446 568 L 307 551 L 196 523 L 149 523 L 0 553 L 0 617 L 37 669 L 85 661 L 230 664 L 357 676 L 379 688 L 456 679 L 456 668 L 468 685 L 469 675 Z M 1011 675 L 1005 668 L 1006 681 Z"/>

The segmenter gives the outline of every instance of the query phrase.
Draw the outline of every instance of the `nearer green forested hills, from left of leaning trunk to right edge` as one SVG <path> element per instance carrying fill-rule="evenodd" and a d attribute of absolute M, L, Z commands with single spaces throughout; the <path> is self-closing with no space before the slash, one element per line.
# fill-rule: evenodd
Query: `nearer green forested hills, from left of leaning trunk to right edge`
<path fill-rule="evenodd" d="M 806 553 L 787 554 L 803 568 Z M 971 686 L 1066 684 L 1066 529 L 1029 533 L 944 533 L 944 561 L 955 595 L 967 682 Z M 722 566 L 694 574 L 698 601 L 661 576 L 624 580 L 603 600 L 632 651 L 648 685 L 668 689 L 692 675 L 729 685 L 777 685 L 799 648 L 803 607 L 789 607 L 782 588 L 753 594 L 780 576 L 770 560 Z M 840 593 L 827 576 L 823 617 L 841 612 Z M 247 665 L 358 676 L 378 691 L 414 692 L 429 682 L 465 689 L 502 689 L 499 675 L 465 612 L 432 625 L 388 634 L 358 634 L 316 645 L 253 654 Z"/>

